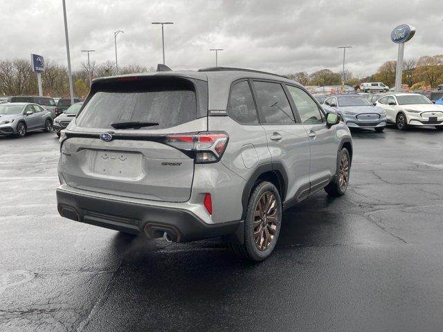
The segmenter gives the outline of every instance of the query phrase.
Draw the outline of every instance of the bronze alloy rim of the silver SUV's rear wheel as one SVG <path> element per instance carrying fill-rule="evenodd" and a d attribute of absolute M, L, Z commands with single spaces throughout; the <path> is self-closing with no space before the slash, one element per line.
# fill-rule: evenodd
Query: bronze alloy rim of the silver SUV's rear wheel
<path fill-rule="evenodd" d="M 259 250 L 266 250 L 277 230 L 278 203 L 272 192 L 264 192 L 258 200 L 254 214 L 254 241 Z"/>

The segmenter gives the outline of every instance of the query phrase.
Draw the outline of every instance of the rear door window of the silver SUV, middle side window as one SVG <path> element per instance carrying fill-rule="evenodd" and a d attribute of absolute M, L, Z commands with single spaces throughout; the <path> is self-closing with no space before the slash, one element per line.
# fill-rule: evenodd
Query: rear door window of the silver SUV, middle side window
<path fill-rule="evenodd" d="M 279 83 L 254 82 L 257 107 L 263 124 L 293 124 L 291 105 Z"/>

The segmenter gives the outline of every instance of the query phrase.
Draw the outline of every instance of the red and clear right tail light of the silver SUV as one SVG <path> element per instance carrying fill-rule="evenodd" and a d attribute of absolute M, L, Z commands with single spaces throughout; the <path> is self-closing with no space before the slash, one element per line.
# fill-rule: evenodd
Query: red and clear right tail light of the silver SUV
<path fill-rule="evenodd" d="M 204 131 L 168 135 L 165 144 L 192 154 L 195 163 L 217 163 L 228 145 L 228 134 Z"/>

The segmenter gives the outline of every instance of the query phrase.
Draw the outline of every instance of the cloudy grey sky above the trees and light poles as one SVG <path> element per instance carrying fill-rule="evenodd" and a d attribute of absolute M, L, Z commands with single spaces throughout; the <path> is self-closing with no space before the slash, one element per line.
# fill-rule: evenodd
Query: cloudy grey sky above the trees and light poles
<path fill-rule="evenodd" d="M 73 69 L 94 49 L 96 62 L 114 61 L 114 31 L 119 65 L 156 66 L 161 62 L 165 27 L 166 64 L 172 68 L 213 66 L 209 48 L 224 48 L 221 66 L 276 73 L 322 68 L 338 71 L 343 50 L 347 68 L 368 75 L 396 59 L 390 31 L 412 24 L 415 37 L 405 57 L 443 53 L 442 0 L 66 0 Z M 0 59 L 44 55 L 66 64 L 62 0 L 0 0 Z"/>

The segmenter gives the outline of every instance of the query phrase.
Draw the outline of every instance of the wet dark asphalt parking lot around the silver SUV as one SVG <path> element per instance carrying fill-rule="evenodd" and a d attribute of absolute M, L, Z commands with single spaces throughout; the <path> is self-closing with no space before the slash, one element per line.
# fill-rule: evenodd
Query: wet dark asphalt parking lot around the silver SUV
<path fill-rule="evenodd" d="M 0 138 L 0 331 L 441 331 L 443 132 L 353 136 L 260 264 L 63 219 L 55 134 Z"/>

